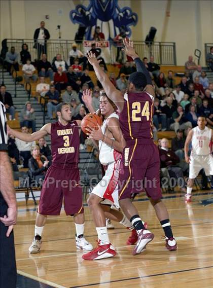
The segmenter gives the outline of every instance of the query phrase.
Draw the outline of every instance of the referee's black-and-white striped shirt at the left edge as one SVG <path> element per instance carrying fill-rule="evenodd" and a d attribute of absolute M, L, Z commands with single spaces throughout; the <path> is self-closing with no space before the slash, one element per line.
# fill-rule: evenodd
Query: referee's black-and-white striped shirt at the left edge
<path fill-rule="evenodd" d="M 0 101 L 0 150 L 8 150 L 7 118 L 5 105 Z"/>

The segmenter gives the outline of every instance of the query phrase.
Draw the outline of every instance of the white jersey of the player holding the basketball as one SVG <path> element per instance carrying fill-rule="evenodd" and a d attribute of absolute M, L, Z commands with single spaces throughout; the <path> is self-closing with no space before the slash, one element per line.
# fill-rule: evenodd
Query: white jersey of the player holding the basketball
<path fill-rule="evenodd" d="M 115 117 L 119 119 L 118 115 L 114 112 L 112 113 L 107 119 L 103 121 L 103 124 L 101 126 L 101 131 L 105 135 L 105 129 L 107 126 L 107 120 L 109 118 Z M 112 138 L 112 140 L 115 140 Z M 102 142 L 101 140 L 98 141 L 99 146 L 99 160 L 102 165 L 108 165 L 109 163 L 112 163 L 118 159 L 121 158 L 122 154 L 118 151 L 116 151 L 113 147 L 107 145 L 106 143 Z"/>

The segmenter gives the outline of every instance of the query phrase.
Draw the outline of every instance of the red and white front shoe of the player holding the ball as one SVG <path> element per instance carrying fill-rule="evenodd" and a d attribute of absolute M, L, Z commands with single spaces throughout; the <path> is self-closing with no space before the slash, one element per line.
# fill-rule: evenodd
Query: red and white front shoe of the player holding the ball
<path fill-rule="evenodd" d="M 116 250 L 111 243 L 109 244 L 100 244 L 100 240 L 98 240 L 97 247 L 82 256 L 84 260 L 99 260 L 103 258 L 111 258 L 116 255 Z"/>

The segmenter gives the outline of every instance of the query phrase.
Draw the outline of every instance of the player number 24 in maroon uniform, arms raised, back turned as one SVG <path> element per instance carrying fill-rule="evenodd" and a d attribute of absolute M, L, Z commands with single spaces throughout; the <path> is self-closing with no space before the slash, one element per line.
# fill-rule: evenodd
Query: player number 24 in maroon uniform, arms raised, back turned
<path fill-rule="evenodd" d="M 95 55 L 88 54 L 88 60 L 93 65 L 95 74 L 105 93 L 118 107 L 120 127 L 126 140 L 119 173 L 119 204 L 137 230 L 138 240 L 132 254 L 139 254 L 152 241 L 154 235 L 145 229 L 130 198 L 131 193 L 137 190 L 135 188 L 137 187 L 136 183 L 141 184 L 144 181 L 145 184 L 147 181 L 145 189 L 164 230 L 166 247 L 169 250 L 176 250 L 177 245 L 172 234 L 168 212 L 161 201 L 160 159 L 152 135 L 155 99 L 152 80 L 144 63 L 136 54 L 133 43 L 125 39 L 124 46 L 123 51 L 133 58 L 137 68 L 137 72 L 129 76 L 128 93 L 125 93 L 124 96 L 113 86 L 107 74 L 101 70 Z"/>

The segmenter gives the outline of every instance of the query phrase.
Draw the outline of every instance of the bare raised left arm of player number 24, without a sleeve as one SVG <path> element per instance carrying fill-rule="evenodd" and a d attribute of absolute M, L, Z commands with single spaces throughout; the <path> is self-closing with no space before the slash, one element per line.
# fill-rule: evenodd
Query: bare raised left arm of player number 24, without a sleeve
<path fill-rule="evenodd" d="M 121 112 L 123 110 L 123 105 L 124 105 L 124 99 L 123 99 L 123 95 L 121 91 L 115 88 L 115 86 L 110 81 L 108 75 L 105 74 L 104 71 L 101 69 L 99 65 L 99 62 L 101 60 L 97 60 L 97 58 L 95 57 L 95 54 L 92 54 L 92 52 L 90 52 L 88 53 L 87 58 L 90 64 L 93 66 L 97 79 L 100 81 L 101 85 L 103 86 L 105 93 L 116 104 L 119 112 Z"/>

